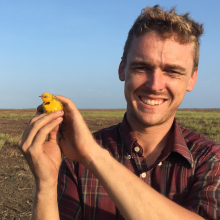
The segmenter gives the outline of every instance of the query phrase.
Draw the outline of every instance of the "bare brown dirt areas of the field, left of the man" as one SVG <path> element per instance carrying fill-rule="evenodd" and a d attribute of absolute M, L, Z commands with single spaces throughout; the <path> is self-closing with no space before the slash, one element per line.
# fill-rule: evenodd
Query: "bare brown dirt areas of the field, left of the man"
<path fill-rule="evenodd" d="M 35 110 L 2 110 L 0 114 L 34 114 Z M 29 118 L 0 118 L 0 133 L 17 136 L 23 133 Z M 87 119 L 91 131 L 117 124 L 121 119 Z M 30 219 L 35 193 L 32 173 L 16 145 L 0 148 L 0 220 Z"/>

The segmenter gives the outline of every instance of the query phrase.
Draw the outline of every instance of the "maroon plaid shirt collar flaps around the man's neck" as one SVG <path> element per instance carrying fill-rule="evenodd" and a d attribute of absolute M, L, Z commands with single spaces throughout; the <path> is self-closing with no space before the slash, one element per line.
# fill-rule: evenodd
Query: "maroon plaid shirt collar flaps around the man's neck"
<path fill-rule="evenodd" d="M 167 141 L 167 144 L 163 150 L 163 155 L 169 155 L 170 152 L 176 152 L 182 155 L 191 165 L 193 166 L 193 157 L 189 150 L 189 148 L 186 145 L 186 140 L 182 134 L 182 130 L 177 124 L 176 119 L 174 119 L 173 122 L 173 132 L 170 135 L 169 140 Z M 131 154 L 132 147 L 135 143 L 137 143 L 137 139 L 134 136 L 133 131 L 131 130 L 131 127 L 127 121 L 126 113 L 124 115 L 123 121 L 121 123 L 121 133 L 123 136 L 123 139 L 126 144 L 126 148 L 128 151 L 128 154 Z M 161 155 L 162 156 L 162 155 Z"/>

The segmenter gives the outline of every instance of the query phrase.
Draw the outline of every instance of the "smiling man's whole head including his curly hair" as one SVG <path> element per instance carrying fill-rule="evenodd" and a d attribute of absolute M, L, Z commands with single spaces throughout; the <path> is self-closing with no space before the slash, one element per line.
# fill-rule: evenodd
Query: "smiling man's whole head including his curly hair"
<path fill-rule="evenodd" d="M 170 126 L 185 92 L 196 83 L 202 32 L 202 25 L 174 9 L 164 12 L 155 6 L 142 11 L 119 65 L 130 124 Z"/>

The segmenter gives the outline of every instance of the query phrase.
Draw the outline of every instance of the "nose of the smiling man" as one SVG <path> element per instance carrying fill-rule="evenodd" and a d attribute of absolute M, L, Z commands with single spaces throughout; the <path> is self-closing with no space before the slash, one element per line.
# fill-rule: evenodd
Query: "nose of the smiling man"
<path fill-rule="evenodd" d="M 165 78 L 160 70 L 154 70 L 147 74 L 145 86 L 153 91 L 163 91 L 165 89 Z"/>

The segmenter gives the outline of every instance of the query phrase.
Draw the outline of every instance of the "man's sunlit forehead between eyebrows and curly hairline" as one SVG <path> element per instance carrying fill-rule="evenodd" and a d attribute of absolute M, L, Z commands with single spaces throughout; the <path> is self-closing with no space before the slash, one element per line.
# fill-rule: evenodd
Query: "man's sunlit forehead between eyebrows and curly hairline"
<path fill-rule="evenodd" d="M 155 64 L 178 64 L 193 66 L 193 44 L 180 44 L 174 37 L 162 39 L 150 32 L 134 37 L 127 55 L 127 63 L 132 60 L 155 62 Z"/>

